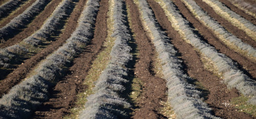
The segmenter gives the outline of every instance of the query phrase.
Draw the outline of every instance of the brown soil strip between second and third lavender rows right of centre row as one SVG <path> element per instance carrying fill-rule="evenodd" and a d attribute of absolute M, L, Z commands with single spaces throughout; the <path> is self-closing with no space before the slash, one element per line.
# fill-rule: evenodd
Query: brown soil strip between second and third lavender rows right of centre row
<path fill-rule="evenodd" d="M 214 33 L 205 27 L 203 24 L 198 21 L 193 14 L 186 8 L 186 6 L 180 0 L 174 0 L 174 3 L 178 6 L 179 9 L 182 9 L 181 12 L 188 21 L 192 23 L 192 26 L 198 29 L 200 35 L 205 38 L 206 42 L 213 45 L 220 53 L 227 55 L 232 60 L 238 63 L 240 69 L 242 69 L 245 74 L 249 75 L 251 79 L 256 80 L 256 63 L 250 61 L 246 57 L 240 55 L 239 53 L 229 49 L 225 46 L 224 43 L 220 42 L 217 37 L 214 36 Z M 253 43 L 256 45 L 256 43 Z"/>

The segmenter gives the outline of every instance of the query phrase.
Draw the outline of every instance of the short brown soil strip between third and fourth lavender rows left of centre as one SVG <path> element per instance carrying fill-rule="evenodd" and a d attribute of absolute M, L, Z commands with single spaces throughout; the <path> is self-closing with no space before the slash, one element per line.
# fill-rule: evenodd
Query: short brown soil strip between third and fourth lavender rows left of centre
<path fill-rule="evenodd" d="M 0 28 L 4 27 L 7 23 L 9 23 L 13 18 L 20 15 L 22 12 L 24 12 L 31 4 L 33 4 L 36 0 L 31 0 L 26 2 L 23 6 L 20 6 L 19 10 L 16 10 L 15 13 L 12 15 L 7 16 L 8 18 L 0 24 Z"/>

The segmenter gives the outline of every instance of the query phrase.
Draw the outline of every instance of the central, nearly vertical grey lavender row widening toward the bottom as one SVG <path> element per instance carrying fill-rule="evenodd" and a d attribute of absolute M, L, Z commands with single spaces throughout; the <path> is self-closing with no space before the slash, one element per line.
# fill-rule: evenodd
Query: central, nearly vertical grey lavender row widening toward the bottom
<path fill-rule="evenodd" d="M 87 98 L 85 109 L 80 119 L 126 119 L 129 118 L 126 110 L 131 105 L 121 98 L 125 90 L 127 78 L 127 63 L 132 60 L 132 48 L 128 45 L 131 34 L 128 30 L 124 13 L 124 0 L 113 2 L 113 34 L 115 44 L 110 52 L 111 60 L 103 70 L 93 88 L 94 94 Z M 126 77 L 126 78 L 125 78 Z"/>

